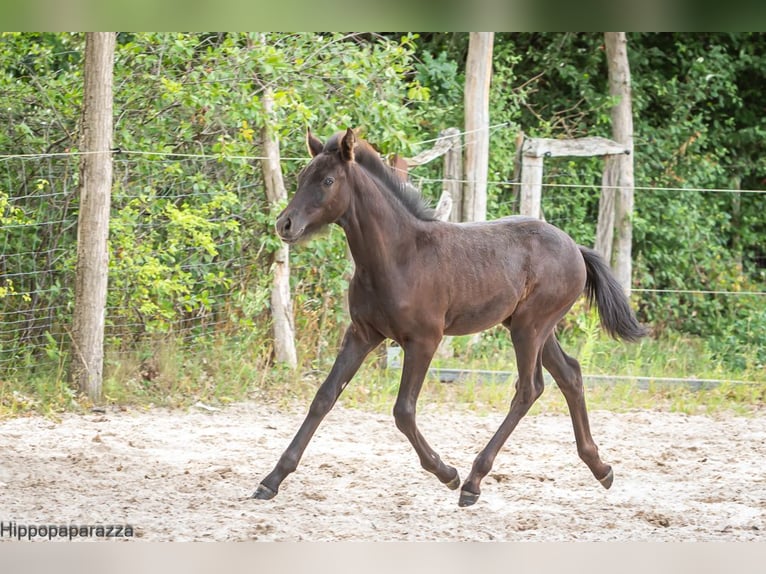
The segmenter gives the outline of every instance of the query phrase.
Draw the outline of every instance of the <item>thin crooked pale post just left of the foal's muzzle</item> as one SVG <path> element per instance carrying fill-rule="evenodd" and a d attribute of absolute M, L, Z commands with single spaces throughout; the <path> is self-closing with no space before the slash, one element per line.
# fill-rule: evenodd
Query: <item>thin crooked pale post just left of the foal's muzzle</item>
<path fill-rule="evenodd" d="M 279 139 L 269 127 L 274 113 L 274 99 L 269 88 L 266 88 L 262 102 L 266 119 L 261 132 L 264 151 L 261 165 L 266 185 L 266 196 L 269 203 L 276 206 L 287 199 L 287 190 L 282 179 Z M 295 326 L 290 296 L 290 247 L 285 243 L 282 243 L 274 253 L 273 274 L 271 317 L 274 332 L 274 358 L 278 363 L 294 369 L 298 365 L 298 357 L 295 351 Z"/>

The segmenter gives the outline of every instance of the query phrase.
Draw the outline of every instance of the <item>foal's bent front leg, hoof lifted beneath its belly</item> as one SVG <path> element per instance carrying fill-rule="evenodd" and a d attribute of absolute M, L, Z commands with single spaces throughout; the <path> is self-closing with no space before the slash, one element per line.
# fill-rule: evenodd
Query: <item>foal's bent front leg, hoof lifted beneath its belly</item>
<path fill-rule="evenodd" d="M 410 441 L 420 458 L 421 466 L 436 475 L 442 483 L 454 490 L 460 486 L 457 470 L 442 462 L 439 455 L 429 446 L 420 434 L 415 422 L 415 413 L 420 389 L 423 387 L 428 366 L 436 352 L 439 338 L 436 341 L 411 342 L 404 346 L 404 365 L 399 394 L 394 405 L 394 420 L 396 427 Z"/>

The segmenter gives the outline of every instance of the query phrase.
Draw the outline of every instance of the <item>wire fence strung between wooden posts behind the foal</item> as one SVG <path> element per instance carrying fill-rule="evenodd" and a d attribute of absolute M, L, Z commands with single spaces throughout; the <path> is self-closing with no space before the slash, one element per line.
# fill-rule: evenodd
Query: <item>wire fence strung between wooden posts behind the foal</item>
<path fill-rule="evenodd" d="M 78 155 L 0 156 L 0 381 L 60 363 L 68 347 Z M 105 319 L 111 348 L 127 352 L 156 336 L 189 342 L 201 334 L 249 329 L 259 315 L 268 313 L 266 270 L 269 242 L 275 239 L 268 237 L 273 214 L 254 168 L 259 159 L 116 154 Z M 415 179 L 420 185 L 444 183 L 438 178 Z M 600 188 L 600 184 L 544 183 L 548 190 L 571 187 Z M 766 194 L 648 186 L 635 190 Z M 638 286 L 634 291 L 660 297 L 766 295 L 750 289 Z"/>

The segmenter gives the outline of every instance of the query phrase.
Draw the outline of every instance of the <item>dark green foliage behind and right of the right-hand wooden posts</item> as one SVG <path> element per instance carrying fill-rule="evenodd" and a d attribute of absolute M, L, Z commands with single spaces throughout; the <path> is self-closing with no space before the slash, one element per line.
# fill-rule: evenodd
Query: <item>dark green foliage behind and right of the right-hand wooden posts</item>
<path fill-rule="evenodd" d="M 525 132 L 611 136 L 601 34 L 501 37 L 526 54 L 515 68 L 518 77 L 528 79 L 520 108 Z M 764 195 L 678 188 L 762 189 L 766 124 L 753 110 L 762 107 L 756 85 L 762 85 L 766 69 L 764 38 L 629 34 L 628 55 L 637 186 L 634 285 L 763 291 Z M 546 160 L 544 183 L 556 185 L 544 190 L 543 212 L 580 243 L 594 240 L 601 169 L 600 160 Z M 763 364 L 753 352 L 762 343 L 763 323 L 755 319 L 743 329 L 737 317 L 762 317 L 764 297 L 642 292 L 637 304 L 656 333 L 710 337 L 721 356 L 733 359 L 725 349 L 738 348 L 747 362 Z"/>

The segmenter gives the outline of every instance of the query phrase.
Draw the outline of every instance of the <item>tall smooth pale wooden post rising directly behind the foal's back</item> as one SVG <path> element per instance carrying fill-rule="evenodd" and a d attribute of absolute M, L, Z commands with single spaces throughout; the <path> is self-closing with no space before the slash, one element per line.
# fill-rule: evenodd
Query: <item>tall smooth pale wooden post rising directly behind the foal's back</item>
<path fill-rule="evenodd" d="M 489 85 L 494 32 L 471 32 L 465 73 L 464 221 L 487 219 Z"/>

